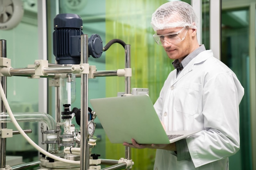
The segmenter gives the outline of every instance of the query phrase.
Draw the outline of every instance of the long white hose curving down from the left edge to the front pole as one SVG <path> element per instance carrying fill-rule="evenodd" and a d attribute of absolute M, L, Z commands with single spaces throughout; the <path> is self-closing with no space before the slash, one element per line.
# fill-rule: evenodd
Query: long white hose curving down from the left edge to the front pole
<path fill-rule="evenodd" d="M 27 140 L 27 142 L 29 142 L 29 144 L 31 144 L 39 152 L 43 153 L 44 155 L 46 155 L 48 157 L 51 157 L 52 159 L 55 159 L 56 161 L 61 161 L 61 162 L 65 162 L 65 163 L 72 163 L 72 164 L 80 164 L 80 161 L 72 161 L 72 160 L 68 160 L 68 159 L 63 159 L 61 157 L 57 157 L 56 155 L 52 155 L 51 153 L 45 151 L 43 148 L 38 146 L 33 140 L 31 140 L 29 138 L 29 136 L 22 130 L 22 128 L 18 124 L 17 120 L 14 118 L 13 113 L 11 111 L 11 108 L 9 106 L 9 103 L 7 101 L 7 98 L 4 94 L 4 90 L 3 90 L 1 82 L 0 82 L 0 95 L 1 95 L 2 101 L 4 103 L 4 106 L 7 110 L 7 113 L 9 114 L 9 116 L 11 118 L 11 121 L 13 122 L 14 126 L 18 129 L 20 134 Z"/>

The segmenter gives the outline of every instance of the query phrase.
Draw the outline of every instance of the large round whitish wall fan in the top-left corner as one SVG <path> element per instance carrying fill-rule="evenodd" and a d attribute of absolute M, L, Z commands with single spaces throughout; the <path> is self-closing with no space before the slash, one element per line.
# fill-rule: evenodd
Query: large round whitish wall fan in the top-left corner
<path fill-rule="evenodd" d="M 0 0 L 0 29 L 16 27 L 24 14 L 21 0 Z"/>

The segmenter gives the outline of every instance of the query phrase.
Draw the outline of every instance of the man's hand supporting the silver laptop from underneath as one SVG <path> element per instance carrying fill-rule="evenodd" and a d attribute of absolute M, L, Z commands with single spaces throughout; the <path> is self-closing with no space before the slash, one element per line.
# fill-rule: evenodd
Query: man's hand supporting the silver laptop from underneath
<path fill-rule="evenodd" d="M 128 143 L 124 142 L 123 145 L 129 146 L 131 148 L 137 148 L 137 149 L 150 148 L 150 149 L 164 149 L 164 150 L 176 151 L 175 143 L 172 143 L 172 144 L 138 144 L 134 139 L 132 139 L 132 144 L 128 144 Z"/>

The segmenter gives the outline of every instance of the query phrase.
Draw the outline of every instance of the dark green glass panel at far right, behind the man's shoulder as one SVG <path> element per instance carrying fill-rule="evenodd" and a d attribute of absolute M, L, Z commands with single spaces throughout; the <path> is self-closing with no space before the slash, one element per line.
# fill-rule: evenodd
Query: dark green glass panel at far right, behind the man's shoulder
<path fill-rule="evenodd" d="M 249 114 L 249 9 L 222 11 L 221 61 L 231 68 L 245 88 L 240 103 L 240 151 L 230 157 L 229 167 L 252 169 Z"/>

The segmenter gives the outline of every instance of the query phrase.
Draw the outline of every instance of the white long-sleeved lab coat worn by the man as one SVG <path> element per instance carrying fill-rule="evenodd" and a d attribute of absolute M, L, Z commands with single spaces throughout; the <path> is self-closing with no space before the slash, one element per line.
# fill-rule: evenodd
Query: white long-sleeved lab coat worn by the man
<path fill-rule="evenodd" d="M 186 139 L 191 159 L 177 161 L 174 152 L 158 149 L 154 170 L 228 170 L 228 157 L 240 148 L 238 105 L 244 88 L 211 50 L 176 74 L 169 74 L 155 102 L 159 119 L 166 131 L 202 131 Z"/>

